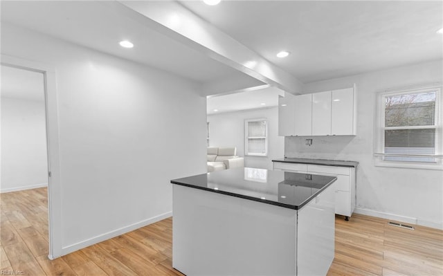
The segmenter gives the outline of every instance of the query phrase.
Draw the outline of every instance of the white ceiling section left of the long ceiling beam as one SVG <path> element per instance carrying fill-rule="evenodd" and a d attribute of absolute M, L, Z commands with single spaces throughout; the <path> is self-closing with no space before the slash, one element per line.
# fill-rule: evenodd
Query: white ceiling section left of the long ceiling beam
<path fill-rule="evenodd" d="M 127 16 L 115 1 L 0 1 L 8 22 L 199 82 L 243 75 Z M 134 43 L 126 49 L 123 39 Z"/>

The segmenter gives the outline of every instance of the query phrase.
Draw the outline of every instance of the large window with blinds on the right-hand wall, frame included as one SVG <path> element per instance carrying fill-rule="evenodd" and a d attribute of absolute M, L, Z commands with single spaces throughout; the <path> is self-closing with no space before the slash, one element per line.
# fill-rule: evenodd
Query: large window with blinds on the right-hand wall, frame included
<path fill-rule="evenodd" d="M 442 169 L 441 88 L 379 93 L 376 165 Z"/>

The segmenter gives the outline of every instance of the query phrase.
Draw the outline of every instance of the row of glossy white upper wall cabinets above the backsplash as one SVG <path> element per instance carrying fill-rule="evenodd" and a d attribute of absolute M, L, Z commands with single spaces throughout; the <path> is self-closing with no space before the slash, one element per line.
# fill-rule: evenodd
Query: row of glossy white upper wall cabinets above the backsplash
<path fill-rule="evenodd" d="M 279 136 L 355 136 L 355 84 L 319 93 L 284 93 L 278 116 Z"/>

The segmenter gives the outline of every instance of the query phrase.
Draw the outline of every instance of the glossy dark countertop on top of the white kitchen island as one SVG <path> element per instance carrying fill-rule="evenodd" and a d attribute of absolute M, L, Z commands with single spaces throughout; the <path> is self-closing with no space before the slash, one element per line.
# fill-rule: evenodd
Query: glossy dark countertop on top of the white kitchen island
<path fill-rule="evenodd" d="M 336 179 L 244 167 L 174 179 L 171 183 L 299 210 Z"/>

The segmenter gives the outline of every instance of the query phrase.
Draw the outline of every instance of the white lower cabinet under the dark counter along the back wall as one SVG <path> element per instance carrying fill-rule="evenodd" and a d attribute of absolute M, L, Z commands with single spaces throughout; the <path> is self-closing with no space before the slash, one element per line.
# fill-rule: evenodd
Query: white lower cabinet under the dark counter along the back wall
<path fill-rule="evenodd" d="M 352 212 L 355 209 L 355 167 L 274 162 L 273 168 L 286 172 L 336 176 L 337 180 L 333 184 L 335 190 L 335 213 L 345 216 L 346 220 L 352 216 Z"/>

